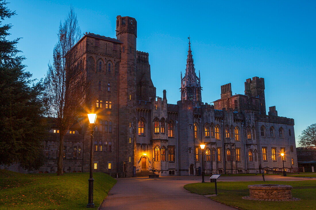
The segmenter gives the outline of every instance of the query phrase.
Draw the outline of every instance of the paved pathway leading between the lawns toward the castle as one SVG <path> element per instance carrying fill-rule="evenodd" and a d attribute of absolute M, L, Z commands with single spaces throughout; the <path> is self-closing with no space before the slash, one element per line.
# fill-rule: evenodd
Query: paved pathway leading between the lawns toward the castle
<path fill-rule="evenodd" d="M 316 178 L 315 178 L 316 179 Z M 185 184 L 201 182 L 201 177 L 167 176 L 158 179 L 149 178 L 117 178 L 109 196 L 103 202 L 101 210 L 105 209 L 234 209 L 203 195 L 197 195 L 185 190 Z M 209 177 L 205 177 L 208 181 Z M 299 177 L 283 177 L 281 175 L 266 175 L 266 181 L 297 181 L 310 180 Z M 220 177 L 218 181 L 262 181 L 262 176 L 228 176 Z"/>

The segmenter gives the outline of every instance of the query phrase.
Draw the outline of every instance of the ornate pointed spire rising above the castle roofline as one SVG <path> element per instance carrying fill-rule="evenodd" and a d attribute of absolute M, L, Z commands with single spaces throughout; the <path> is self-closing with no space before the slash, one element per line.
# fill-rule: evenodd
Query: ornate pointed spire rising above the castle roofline
<path fill-rule="evenodd" d="M 197 77 L 197 74 L 195 73 L 190 37 L 188 37 L 188 39 L 189 50 L 188 57 L 186 59 L 186 69 L 184 77 L 182 77 L 181 73 L 181 101 L 188 100 L 193 101 L 194 104 L 198 104 L 199 102 L 202 102 L 202 87 L 200 77 Z"/>

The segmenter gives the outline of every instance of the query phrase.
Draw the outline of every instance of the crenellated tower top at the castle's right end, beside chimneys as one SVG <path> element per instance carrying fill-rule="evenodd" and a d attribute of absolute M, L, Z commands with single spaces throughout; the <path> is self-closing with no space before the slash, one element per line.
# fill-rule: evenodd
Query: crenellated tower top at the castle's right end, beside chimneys
<path fill-rule="evenodd" d="M 266 114 L 265 110 L 265 96 L 264 96 L 264 78 L 253 77 L 246 79 L 245 82 L 245 95 L 259 98 L 260 114 Z"/>

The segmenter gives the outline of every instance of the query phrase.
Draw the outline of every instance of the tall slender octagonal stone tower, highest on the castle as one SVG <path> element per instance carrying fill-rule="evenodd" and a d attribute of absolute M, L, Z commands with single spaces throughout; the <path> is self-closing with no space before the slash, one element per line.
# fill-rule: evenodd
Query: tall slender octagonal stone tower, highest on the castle
<path fill-rule="evenodd" d="M 128 16 L 118 15 L 116 18 L 116 36 L 123 43 L 118 76 L 118 171 L 125 172 L 125 176 L 131 177 L 136 145 L 137 21 Z"/>

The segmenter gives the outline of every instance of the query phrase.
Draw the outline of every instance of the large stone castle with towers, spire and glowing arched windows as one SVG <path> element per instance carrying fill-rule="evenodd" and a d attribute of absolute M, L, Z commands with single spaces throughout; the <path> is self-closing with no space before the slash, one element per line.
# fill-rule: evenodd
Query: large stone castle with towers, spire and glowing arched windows
<path fill-rule="evenodd" d="M 221 86 L 214 105 L 202 102 L 200 75 L 191 43 L 177 104 L 167 92 L 156 97 L 149 54 L 137 51 L 137 21 L 117 16 L 117 38 L 86 33 L 75 45 L 90 82 L 91 106 L 98 113 L 94 132 L 94 171 L 131 177 L 136 172 L 160 175 L 262 173 L 297 169 L 294 120 L 280 117 L 275 106 L 266 115 L 264 78 L 246 79 L 245 94 Z M 46 164 L 57 171 L 58 128 L 45 141 Z M 88 172 L 90 136 L 87 121 L 65 137 L 64 171 Z M 200 144 L 204 143 L 204 161 Z"/>

